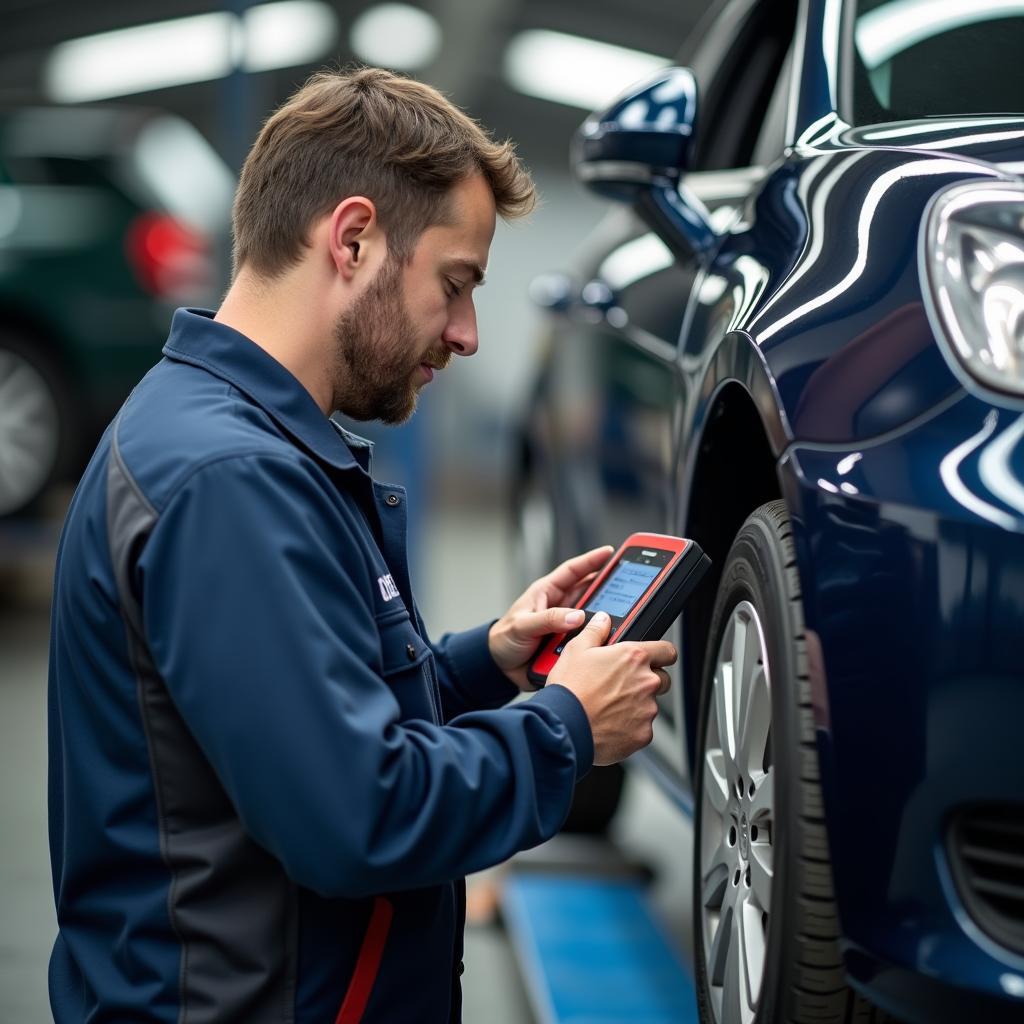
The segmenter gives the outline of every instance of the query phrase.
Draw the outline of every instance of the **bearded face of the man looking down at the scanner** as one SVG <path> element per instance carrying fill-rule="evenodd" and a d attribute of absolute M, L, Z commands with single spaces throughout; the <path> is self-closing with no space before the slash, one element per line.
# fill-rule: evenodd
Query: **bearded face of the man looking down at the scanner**
<path fill-rule="evenodd" d="M 335 409 L 403 423 L 434 371 L 476 351 L 473 289 L 494 233 L 494 196 L 477 175 L 453 187 L 450 222 L 428 227 L 408 264 L 388 256 L 335 323 Z"/>

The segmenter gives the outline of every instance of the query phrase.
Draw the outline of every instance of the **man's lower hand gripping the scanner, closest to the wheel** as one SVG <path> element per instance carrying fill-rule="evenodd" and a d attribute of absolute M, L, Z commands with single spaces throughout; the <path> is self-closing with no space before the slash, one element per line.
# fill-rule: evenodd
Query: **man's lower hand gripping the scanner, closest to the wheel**
<path fill-rule="evenodd" d="M 610 765 L 646 746 L 654 735 L 655 696 L 671 685 L 676 648 L 667 640 L 604 646 L 611 620 L 599 611 L 573 637 L 548 677 L 571 690 L 594 734 L 594 764 Z"/>

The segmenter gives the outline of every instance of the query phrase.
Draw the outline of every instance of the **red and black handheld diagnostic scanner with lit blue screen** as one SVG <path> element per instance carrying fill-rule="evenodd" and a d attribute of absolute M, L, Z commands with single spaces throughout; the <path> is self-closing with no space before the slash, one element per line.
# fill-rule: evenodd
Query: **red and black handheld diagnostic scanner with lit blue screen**
<path fill-rule="evenodd" d="M 611 618 L 608 643 L 660 640 L 710 567 L 711 559 L 693 541 L 663 534 L 628 537 L 577 601 L 583 625 L 542 641 L 526 668 L 530 683 L 540 689 L 547 682 L 565 645 L 598 611 Z"/>

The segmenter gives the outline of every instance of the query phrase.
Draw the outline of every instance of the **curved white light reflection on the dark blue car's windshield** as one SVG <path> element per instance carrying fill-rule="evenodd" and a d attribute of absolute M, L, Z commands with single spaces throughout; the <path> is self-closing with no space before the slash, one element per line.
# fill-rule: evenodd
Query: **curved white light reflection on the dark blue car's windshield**
<path fill-rule="evenodd" d="M 857 18 L 857 49 L 871 71 L 943 32 L 1022 12 L 1021 0 L 894 0 Z"/>

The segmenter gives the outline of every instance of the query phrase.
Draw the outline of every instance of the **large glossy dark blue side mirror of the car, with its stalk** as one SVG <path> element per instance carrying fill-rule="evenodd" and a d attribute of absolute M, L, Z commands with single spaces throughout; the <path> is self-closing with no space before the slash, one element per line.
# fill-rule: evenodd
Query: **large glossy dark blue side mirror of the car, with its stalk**
<path fill-rule="evenodd" d="M 573 139 L 572 168 L 593 191 L 635 206 L 670 247 L 703 259 L 717 236 L 681 181 L 696 123 L 693 72 L 666 68 L 587 118 Z"/>

